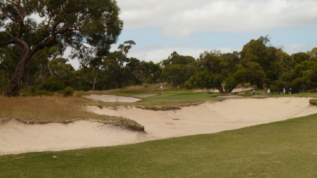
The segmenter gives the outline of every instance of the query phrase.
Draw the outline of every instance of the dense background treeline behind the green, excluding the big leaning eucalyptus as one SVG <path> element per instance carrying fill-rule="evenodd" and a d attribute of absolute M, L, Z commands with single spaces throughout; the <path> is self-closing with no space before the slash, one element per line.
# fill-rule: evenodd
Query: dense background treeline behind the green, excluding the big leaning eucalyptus
<path fill-rule="evenodd" d="M 82 64 L 78 70 L 59 57 L 56 47 L 39 50 L 28 63 L 21 80 L 22 88 L 32 93 L 76 90 L 117 89 L 145 83 L 166 82 L 173 86 L 218 89 L 231 92 L 238 85 L 249 83 L 259 89 L 281 92 L 316 91 L 317 48 L 289 55 L 281 48 L 267 45 L 268 37 L 251 40 L 240 52 L 204 51 L 198 59 L 176 51 L 155 64 L 127 57 L 134 41 L 118 46 L 99 62 Z M 14 74 L 14 48 L 0 52 L 0 91 L 4 92 Z"/>

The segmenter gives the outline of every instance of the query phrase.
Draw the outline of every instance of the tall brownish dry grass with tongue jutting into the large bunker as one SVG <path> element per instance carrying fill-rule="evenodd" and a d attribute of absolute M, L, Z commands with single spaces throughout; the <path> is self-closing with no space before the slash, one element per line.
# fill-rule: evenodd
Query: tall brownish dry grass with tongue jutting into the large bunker
<path fill-rule="evenodd" d="M 99 102 L 80 97 L 0 97 L 0 122 L 14 119 L 26 124 L 45 124 L 97 120 L 132 130 L 144 130 L 143 126 L 126 118 L 91 113 L 85 109 L 87 104 L 99 105 Z"/>

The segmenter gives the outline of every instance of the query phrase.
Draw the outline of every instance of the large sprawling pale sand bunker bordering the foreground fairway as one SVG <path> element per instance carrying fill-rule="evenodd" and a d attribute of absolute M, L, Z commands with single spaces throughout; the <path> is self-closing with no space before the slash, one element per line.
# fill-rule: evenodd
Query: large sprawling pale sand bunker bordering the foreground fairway
<path fill-rule="evenodd" d="M 234 130 L 315 114 L 317 107 L 311 106 L 309 99 L 311 98 L 232 98 L 171 111 L 151 111 L 135 107 L 118 107 L 113 110 L 90 106 L 88 109 L 97 114 L 135 120 L 145 127 L 145 133 L 90 121 L 67 125 L 24 125 L 9 122 L 0 125 L 0 155 L 129 144 Z M 179 120 L 173 120 L 171 116 Z"/>

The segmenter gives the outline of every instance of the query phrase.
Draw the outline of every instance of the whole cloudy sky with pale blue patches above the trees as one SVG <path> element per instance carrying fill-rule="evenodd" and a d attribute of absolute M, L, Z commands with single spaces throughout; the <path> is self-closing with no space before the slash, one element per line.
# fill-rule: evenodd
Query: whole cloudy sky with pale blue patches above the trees
<path fill-rule="evenodd" d="M 158 63 L 173 51 L 198 58 L 205 50 L 240 52 L 268 35 L 288 54 L 317 47 L 317 0 L 116 0 L 128 57 Z M 70 63 L 75 69 L 78 61 Z"/>

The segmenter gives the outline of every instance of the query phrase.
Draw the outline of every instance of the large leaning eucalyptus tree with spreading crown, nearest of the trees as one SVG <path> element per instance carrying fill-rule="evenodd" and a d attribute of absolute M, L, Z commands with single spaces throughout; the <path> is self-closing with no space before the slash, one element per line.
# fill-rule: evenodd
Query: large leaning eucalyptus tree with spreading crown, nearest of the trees
<path fill-rule="evenodd" d="M 121 33 L 119 12 L 115 0 L 1 0 L 0 48 L 22 48 L 5 95 L 18 96 L 28 61 L 46 46 L 70 47 L 82 63 L 101 60 Z"/>

